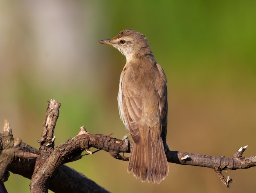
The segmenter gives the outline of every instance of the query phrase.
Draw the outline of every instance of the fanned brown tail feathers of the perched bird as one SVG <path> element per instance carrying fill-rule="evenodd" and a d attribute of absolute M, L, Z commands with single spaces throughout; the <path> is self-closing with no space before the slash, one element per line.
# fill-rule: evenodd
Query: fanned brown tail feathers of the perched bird
<path fill-rule="evenodd" d="M 133 142 L 127 171 L 130 173 L 132 170 L 133 175 L 141 177 L 142 182 L 148 180 L 159 184 L 168 175 L 169 166 L 161 135 L 154 138 L 149 129 L 144 140 L 141 139 L 138 144 Z"/>

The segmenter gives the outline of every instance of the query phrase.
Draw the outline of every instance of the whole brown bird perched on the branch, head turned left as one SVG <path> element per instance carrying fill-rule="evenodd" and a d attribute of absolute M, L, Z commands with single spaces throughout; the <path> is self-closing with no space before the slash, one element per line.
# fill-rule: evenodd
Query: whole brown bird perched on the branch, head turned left
<path fill-rule="evenodd" d="M 137 31 L 125 29 L 111 40 L 99 43 L 112 45 L 126 57 L 120 77 L 118 105 L 120 118 L 134 141 L 127 171 L 132 170 L 142 182 L 148 180 L 159 184 L 169 171 L 164 150 L 164 146 L 168 148 L 164 71 L 155 61 L 146 37 Z"/>

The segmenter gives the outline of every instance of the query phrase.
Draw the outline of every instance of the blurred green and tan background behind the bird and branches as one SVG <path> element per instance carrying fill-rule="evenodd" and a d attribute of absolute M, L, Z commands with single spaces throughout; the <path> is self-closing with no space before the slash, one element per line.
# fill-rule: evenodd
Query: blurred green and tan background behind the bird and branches
<path fill-rule="evenodd" d="M 80 126 L 123 138 L 119 76 L 126 59 L 98 44 L 123 29 L 147 36 L 168 80 L 171 150 L 231 157 L 256 154 L 256 1 L 0 0 L 0 120 L 39 148 L 47 101 L 61 102 L 56 145 Z M 1 131 L 2 132 L 2 131 Z M 93 149 L 92 149 L 93 151 Z M 129 156 L 129 154 L 127 154 Z M 128 162 L 100 151 L 67 164 L 113 193 L 256 192 L 256 168 L 224 171 L 169 163 L 161 184 L 142 183 Z M 9 193 L 29 192 L 11 173 Z"/>

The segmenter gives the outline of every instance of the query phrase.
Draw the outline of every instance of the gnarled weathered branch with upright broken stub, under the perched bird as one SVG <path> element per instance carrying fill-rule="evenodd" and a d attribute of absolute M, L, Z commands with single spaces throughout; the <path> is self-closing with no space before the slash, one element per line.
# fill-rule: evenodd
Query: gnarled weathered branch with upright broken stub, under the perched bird
<path fill-rule="evenodd" d="M 91 153 L 91 147 L 104 150 L 116 159 L 128 161 L 128 157 L 120 155 L 119 153 L 130 153 L 132 141 L 119 140 L 103 134 L 92 135 L 88 133 L 84 127 L 81 127 L 78 135 L 59 144 L 54 149 L 53 131 L 58 118 L 59 107 L 60 104 L 55 100 L 49 102 L 42 138 L 40 140 L 40 151 L 25 143 L 20 143 L 19 148 L 21 151 L 39 154 L 40 158 L 37 158 L 37 160 L 40 160 L 40 162 L 35 162 L 35 159 L 27 158 L 22 158 L 19 161 L 14 159 L 11 163 L 8 162 L 4 167 L 7 168 L 8 165 L 9 171 L 28 178 L 31 178 L 34 172 L 33 175 L 35 177 L 33 178 L 34 180 L 31 180 L 31 187 L 33 186 L 33 190 L 38 190 L 37 187 L 40 186 L 41 188 L 38 192 L 47 192 L 48 188 L 54 192 L 63 193 L 108 192 L 81 173 L 78 173 L 63 164 L 80 159 L 83 150 Z M 3 138 L 3 144 L 4 143 Z M 211 168 L 216 172 L 220 180 L 229 187 L 229 183 L 232 182 L 232 180 L 230 177 L 224 177 L 221 173 L 222 170 L 247 169 L 256 166 L 256 156 L 249 158 L 242 157 L 246 148 L 247 146 L 241 147 L 231 158 L 169 150 L 166 151 L 166 157 L 168 162 L 176 164 Z M 14 158 L 17 158 L 17 155 L 18 154 L 15 154 Z M 35 164 L 36 169 L 33 171 Z M 2 171 L 2 173 L 4 172 Z"/>

